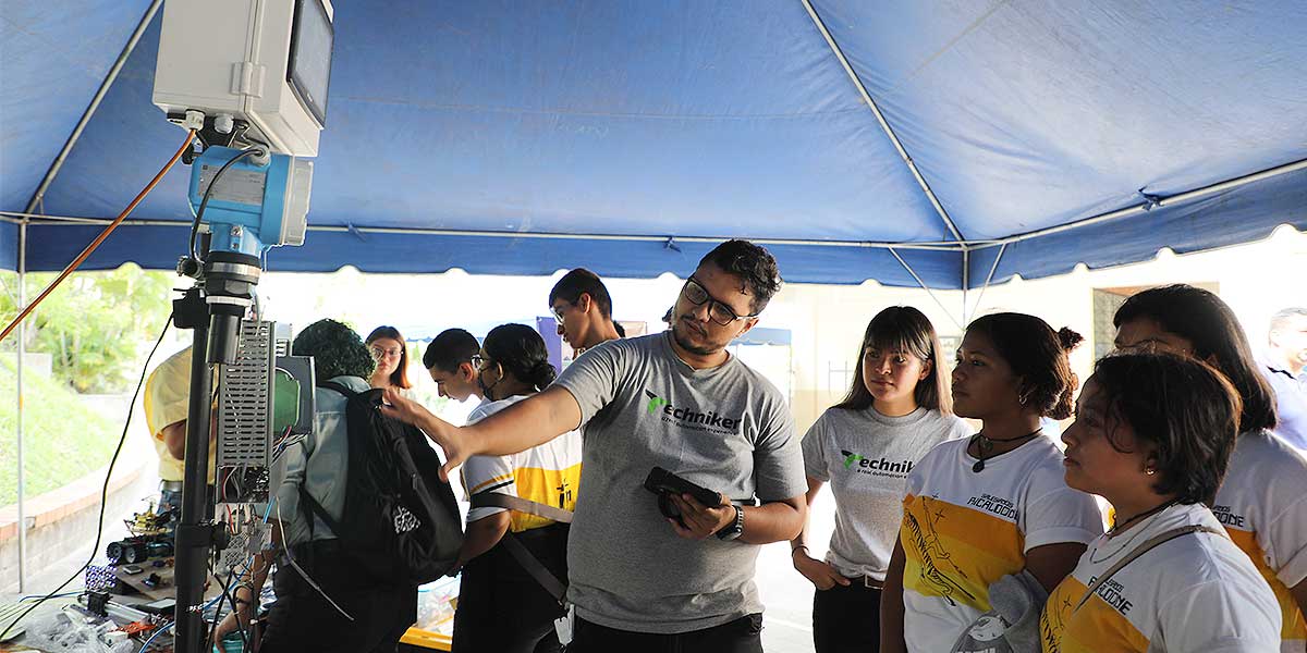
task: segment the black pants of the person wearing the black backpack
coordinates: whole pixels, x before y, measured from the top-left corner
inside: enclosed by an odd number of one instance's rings
[[[329,541],[335,542],[335,541]],[[273,577],[277,602],[268,611],[261,653],[393,653],[404,631],[417,622],[417,588],[378,586],[358,575],[340,551],[319,542],[312,552],[297,547],[295,562],[340,605],[340,614],[289,564]]]

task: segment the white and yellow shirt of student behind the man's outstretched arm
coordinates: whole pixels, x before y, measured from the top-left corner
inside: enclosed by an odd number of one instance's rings
[[[474,424],[524,398],[527,397],[518,394],[499,401],[484,401],[468,415],[468,423]],[[463,488],[469,498],[477,492],[491,491],[575,511],[576,488],[580,486],[580,431],[569,431],[520,453],[472,456],[463,465]],[[503,508],[472,508],[468,511],[468,524],[503,511]],[[521,533],[552,525],[554,521],[514,512],[508,524],[508,530]]]

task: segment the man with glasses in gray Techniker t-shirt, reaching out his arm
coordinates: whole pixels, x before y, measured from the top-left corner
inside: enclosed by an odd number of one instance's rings
[[[775,260],[744,240],[699,261],[672,329],[605,342],[545,392],[455,428],[387,393],[389,414],[427,432],[446,470],[584,428],[580,494],[569,543],[569,652],[761,652],[753,584],[758,545],[792,539],[805,516],[802,453],[784,397],[725,350],[779,289]],[[718,505],[672,495],[664,517],[642,485],[661,466],[721,492]],[[761,505],[741,505],[757,499]],[[736,503],[731,503],[735,500]]]

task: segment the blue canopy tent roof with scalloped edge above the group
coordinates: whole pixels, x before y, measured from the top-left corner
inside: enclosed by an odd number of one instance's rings
[[[159,4],[0,7],[0,266],[61,269],[179,145]],[[1307,229],[1303,34],[1298,0],[340,0],[268,266],[644,277],[744,236],[793,282],[966,290]],[[186,185],[84,269],[173,268]]]

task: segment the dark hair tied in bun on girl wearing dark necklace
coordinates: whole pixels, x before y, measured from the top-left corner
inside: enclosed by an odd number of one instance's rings
[[[989,337],[1012,374],[1021,377],[1023,405],[1039,409],[1043,417],[1067,419],[1078,385],[1068,354],[1085,338],[1065,326],[1053,330],[1048,323],[1026,313],[991,313],[978,317],[967,332]]]

